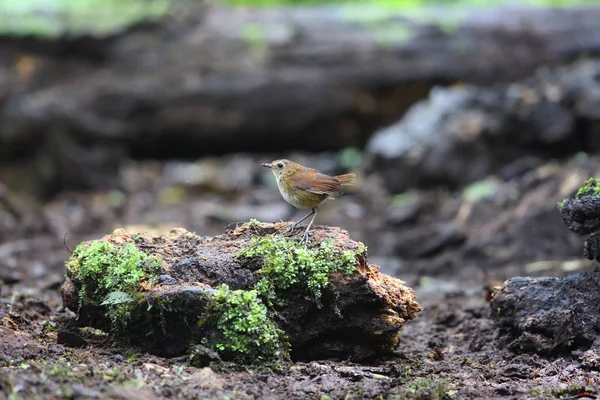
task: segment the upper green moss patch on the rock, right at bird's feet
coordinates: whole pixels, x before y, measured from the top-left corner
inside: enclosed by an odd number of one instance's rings
[[[256,271],[259,281],[255,290],[269,302],[290,288],[308,292],[315,300],[321,298],[329,277],[335,272],[351,275],[356,269],[358,251],[336,250],[331,240],[314,248],[306,248],[296,240],[280,235],[253,238],[250,244],[237,253],[238,258],[260,257],[262,267]]]

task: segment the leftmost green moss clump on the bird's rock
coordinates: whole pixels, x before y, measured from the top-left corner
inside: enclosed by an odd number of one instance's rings
[[[153,286],[161,261],[132,244],[115,246],[95,240],[82,243],[66,262],[69,278],[78,283],[79,304],[106,307],[113,328],[123,322],[129,306],[139,300],[142,284]]]

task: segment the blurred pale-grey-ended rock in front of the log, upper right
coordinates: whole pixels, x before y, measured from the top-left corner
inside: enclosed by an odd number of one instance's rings
[[[436,88],[375,133],[367,163],[381,170],[390,191],[402,192],[463,186],[493,173],[510,177],[541,159],[597,151],[599,72],[600,63],[581,62],[540,69],[520,83]],[[525,157],[527,163],[514,164]]]

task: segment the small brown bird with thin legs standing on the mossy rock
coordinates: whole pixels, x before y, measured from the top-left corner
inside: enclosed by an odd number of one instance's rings
[[[319,204],[325,199],[344,194],[340,187],[352,185],[356,178],[355,174],[325,175],[316,169],[306,168],[290,160],[275,160],[261,165],[271,168],[277,179],[279,192],[285,201],[301,210],[311,209],[309,214],[293,223],[288,230],[292,232],[300,222],[313,215],[302,236],[302,242],[305,243],[308,241],[310,227],[319,214]]]

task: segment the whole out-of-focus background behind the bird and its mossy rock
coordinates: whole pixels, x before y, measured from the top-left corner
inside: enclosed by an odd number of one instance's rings
[[[277,158],[356,172],[316,223],[422,292],[588,268],[556,203],[600,172],[598,54],[592,0],[0,0],[0,281],[297,220]]]

